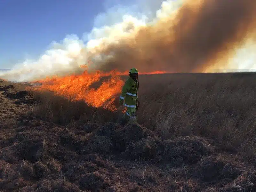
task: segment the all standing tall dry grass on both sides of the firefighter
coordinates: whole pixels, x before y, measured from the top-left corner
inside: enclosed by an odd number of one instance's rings
[[[212,138],[248,160],[256,153],[255,74],[164,74],[140,76],[138,123],[163,139],[180,135]],[[30,112],[55,123],[79,126],[118,121],[112,113],[51,93],[32,93]],[[119,96],[117,96],[118,98]]]

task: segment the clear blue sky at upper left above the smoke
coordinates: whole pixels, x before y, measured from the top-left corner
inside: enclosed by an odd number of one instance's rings
[[[52,41],[82,38],[116,0],[0,0],[0,68],[37,58]]]

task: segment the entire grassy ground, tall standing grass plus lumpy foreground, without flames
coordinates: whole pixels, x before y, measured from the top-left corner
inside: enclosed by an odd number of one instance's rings
[[[141,75],[132,125],[119,123],[122,107],[10,84],[0,83],[4,192],[256,191],[254,73]]]

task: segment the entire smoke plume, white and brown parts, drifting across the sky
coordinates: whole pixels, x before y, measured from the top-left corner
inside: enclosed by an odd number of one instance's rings
[[[136,6],[117,10],[118,15],[113,10],[99,15],[102,22],[96,22],[84,41],[68,36],[38,60],[17,64],[0,77],[32,81],[81,73],[81,65],[89,71],[120,72],[132,67],[139,72],[254,67],[255,0],[168,0],[153,15]],[[115,21],[106,26],[104,18]]]

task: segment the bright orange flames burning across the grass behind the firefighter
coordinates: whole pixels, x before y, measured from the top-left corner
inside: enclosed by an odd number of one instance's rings
[[[142,74],[162,74],[165,72],[155,71]],[[52,91],[55,95],[64,96],[72,101],[84,101],[89,106],[104,108],[111,111],[117,110],[115,106],[116,96],[121,93],[124,80],[121,76],[127,76],[128,72],[121,73],[111,71],[109,73],[88,73],[85,71],[81,75],[72,75],[65,77],[46,78],[36,83],[42,84],[33,89],[37,91]],[[101,81],[102,77],[110,77]],[[93,88],[97,84],[98,88]]]

